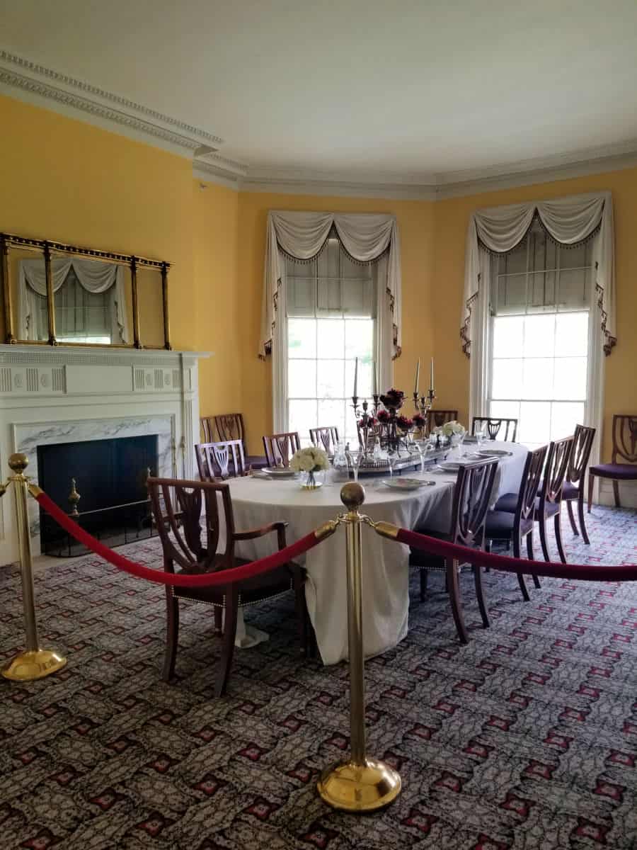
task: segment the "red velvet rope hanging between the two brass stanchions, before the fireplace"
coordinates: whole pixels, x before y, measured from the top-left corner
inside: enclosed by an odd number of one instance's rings
[[[251,564],[242,564],[240,567],[219,570],[216,573],[199,573],[196,575],[166,573],[163,570],[153,570],[151,567],[144,567],[143,564],[135,564],[134,561],[129,561],[123,555],[113,552],[112,549],[104,546],[104,543],[100,543],[93,535],[88,534],[74,520],[70,519],[46,493],[38,493],[35,498],[41,507],[65,531],[68,531],[70,535],[76,538],[76,541],[83,543],[84,546],[93,550],[100,558],[104,558],[109,564],[116,566],[118,570],[124,570],[131,575],[137,575],[140,579],[148,579],[149,581],[155,581],[157,584],[173,585],[174,587],[219,587],[237,581],[245,581],[245,579],[251,579],[254,575],[262,575],[262,573],[268,573],[270,570],[275,570],[277,567],[287,564],[293,558],[297,558],[320,542],[320,538],[311,531],[308,535],[302,537],[301,540],[297,540],[296,543],[292,543],[290,546],[285,547],[285,549],[281,549],[280,552],[268,555],[268,558],[252,561]]]

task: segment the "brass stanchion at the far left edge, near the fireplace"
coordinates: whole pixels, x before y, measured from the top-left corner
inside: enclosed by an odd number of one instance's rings
[[[9,482],[14,485],[15,515],[20,545],[20,573],[22,575],[22,604],[25,609],[26,649],[2,668],[5,679],[30,682],[58,671],[66,659],[54,649],[42,649],[37,638],[36,604],[33,591],[33,563],[31,560],[31,530],[29,529],[29,479],[24,471],[29,463],[26,455],[11,455],[8,465],[14,474]]]

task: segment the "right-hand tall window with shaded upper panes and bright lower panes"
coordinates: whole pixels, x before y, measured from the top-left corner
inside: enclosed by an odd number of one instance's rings
[[[489,415],[518,419],[518,439],[530,448],[585,420],[592,251],[592,241],[555,243],[536,222],[492,263]]]

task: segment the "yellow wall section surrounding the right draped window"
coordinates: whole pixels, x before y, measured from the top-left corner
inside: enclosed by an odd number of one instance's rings
[[[604,437],[602,454],[610,460],[614,413],[637,411],[637,168],[589,177],[535,184],[517,189],[470,195],[436,204],[434,286],[434,345],[437,363],[437,406],[456,405],[466,420],[469,405],[469,361],[459,345],[460,308],[464,290],[465,239],[471,212],[520,201],[542,200],[581,192],[611,190],[615,213],[615,259],[617,277],[617,346],[606,358]]]

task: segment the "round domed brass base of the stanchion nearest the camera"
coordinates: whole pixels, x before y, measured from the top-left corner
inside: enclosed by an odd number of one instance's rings
[[[318,779],[318,793],[333,808],[373,812],[389,805],[400,793],[400,775],[374,758],[364,765],[337,762]]]

